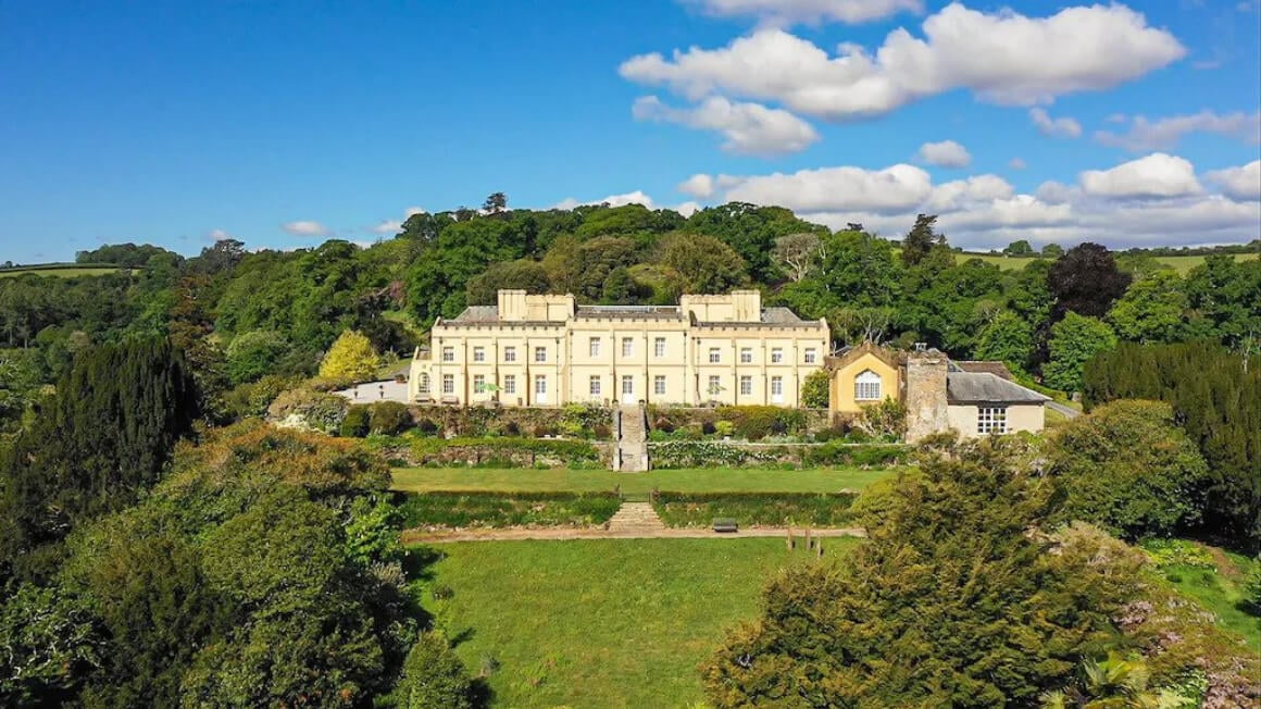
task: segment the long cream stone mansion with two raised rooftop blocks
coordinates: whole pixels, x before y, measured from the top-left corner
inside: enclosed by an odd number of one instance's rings
[[[827,322],[763,308],[757,290],[683,295],[678,305],[578,305],[572,295],[501,290],[434,323],[409,399],[455,405],[569,402],[798,406],[823,367]]]

